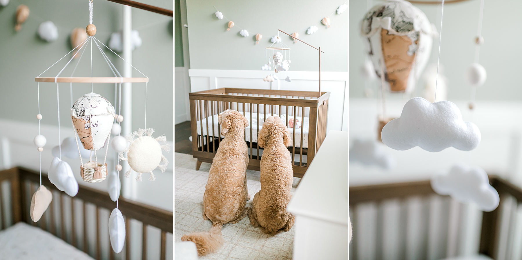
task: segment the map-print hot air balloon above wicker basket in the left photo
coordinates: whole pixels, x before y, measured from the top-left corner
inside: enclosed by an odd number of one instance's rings
[[[103,148],[114,122],[114,107],[111,102],[99,94],[87,93],[76,100],[70,114],[84,148]]]

